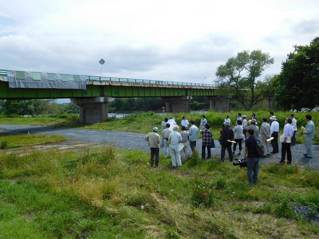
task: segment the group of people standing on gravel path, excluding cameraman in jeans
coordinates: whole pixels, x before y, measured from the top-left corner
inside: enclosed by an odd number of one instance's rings
[[[283,135],[279,137],[279,122],[273,112],[270,112],[269,116],[269,122],[266,117],[261,119],[260,128],[257,125],[257,118],[254,113],[248,121],[246,115],[242,116],[241,113],[238,113],[236,122],[232,128],[231,119],[229,119],[229,116],[226,116],[220,130],[219,142],[221,144],[221,161],[224,161],[226,149],[228,151],[229,160],[233,161],[233,155],[235,154],[237,145],[239,147],[238,155],[241,155],[243,141],[246,141],[244,157],[249,156],[248,148],[246,146],[247,139],[254,136],[264,147],[263,157],[279,153],[278,139],[280,139],[280,142],[282,143],[282,157],[280,163],[285,163],[287,155],[287,163],[291,164],[291,146],[296,144],[297,120],[295,119],[294,114],[290,114],[289,118],[285,120]],[[188,122],[186,117],[182,117],[180,132],[178,132],[179,126],[176,122],[173,120],[173,125],[171,125],[168,123],[169,119],[167,118],[161,123],[161,137],[157,133],[158,128],[154,127],[153,132],[145,136],[145,139],[149,141],[151,147],[151,166],[154,165],[154,161],[156,166],[159,164],[160,147],[163,147],[164,149],[164,158],[167,158],[168,155],[170,155],[173,167],[181,166],[182,161],[190,156],[187,141],[189,141],[189,147],[193,152],[196,147],[198,132],[202,135],[201,157],[203,160],[209,160],[211,157],[212,132],[209,130],[210,124],[207,123],[206,117],[203,115],[201,118],[200,130],[193,120]],[[315,124],[312,121],[311,115],[306,115],[306,121],[307,126],[306,128],[303,128],[303,132],[306,135],[306,152],[304,155],[305,157],[312,158],[312,141],[315,135]],[[247,133],[248,131],[250,133]],[[248,143],[248,145],[251,144]],[[270,149],[270,145],[272,146],[272,150]],[[207,157],[205,154],[206,150]],[[256,159],[256,162],[258,160]]]

